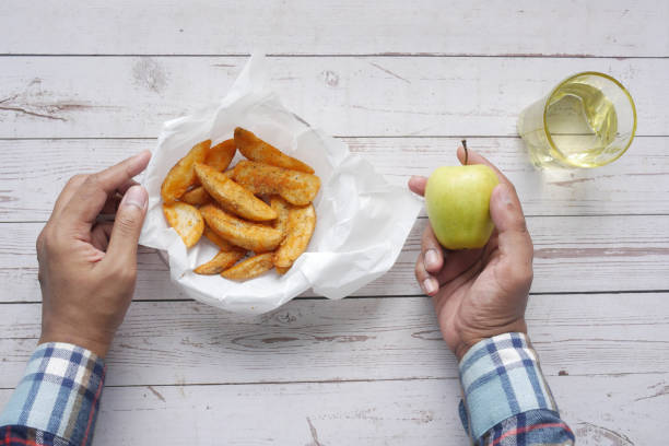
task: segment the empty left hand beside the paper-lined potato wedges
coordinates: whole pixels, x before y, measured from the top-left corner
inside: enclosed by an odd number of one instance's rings
[[[150,157],[144,151],[96,174],[77,175],[60,192],[37,237],[39,343],[69,342],[107,354],[134,292],[148,193],[132,177]],[[114,212],[114,222],[98,221]]]

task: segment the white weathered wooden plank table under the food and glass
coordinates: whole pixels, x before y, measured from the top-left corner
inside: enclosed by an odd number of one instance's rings
[[[455,164],[462,137],[500,166],[535,240],[527,318],[563,416],[580,444],[666,443],[668,20],[665,1],[2,1],[0,404],[39,333],[34,243],[66,180],[153,146],[261,50],[286,105],[392,181]],[[516,118],[584,70],[629,86],[636,140],[612,165],[542,174]],[[186,298],[142,249],[96,444],[467,444],[413,280],[425,224],[354,296],[261,317]]]

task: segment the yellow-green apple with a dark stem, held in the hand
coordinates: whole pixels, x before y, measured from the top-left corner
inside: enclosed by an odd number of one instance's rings
[[[425,187],[425,207],[437,239],[447,249],[481,248],[493,231],[490,197],[498,184],[482,164],[439,167]]]

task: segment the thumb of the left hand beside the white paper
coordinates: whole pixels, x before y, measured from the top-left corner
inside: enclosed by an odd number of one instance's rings
[[[105,259],[127,266],[137,262],[137,244],[146,215],[148,201],[149,195],[142,186],[132,186],[126,191],[116,211]]]

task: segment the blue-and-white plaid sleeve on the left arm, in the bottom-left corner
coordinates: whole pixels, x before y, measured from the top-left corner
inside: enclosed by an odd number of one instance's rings
[[[0,445],[90,445],[104,378],[105,365],[93,352],[38,345],[0,413]]]

